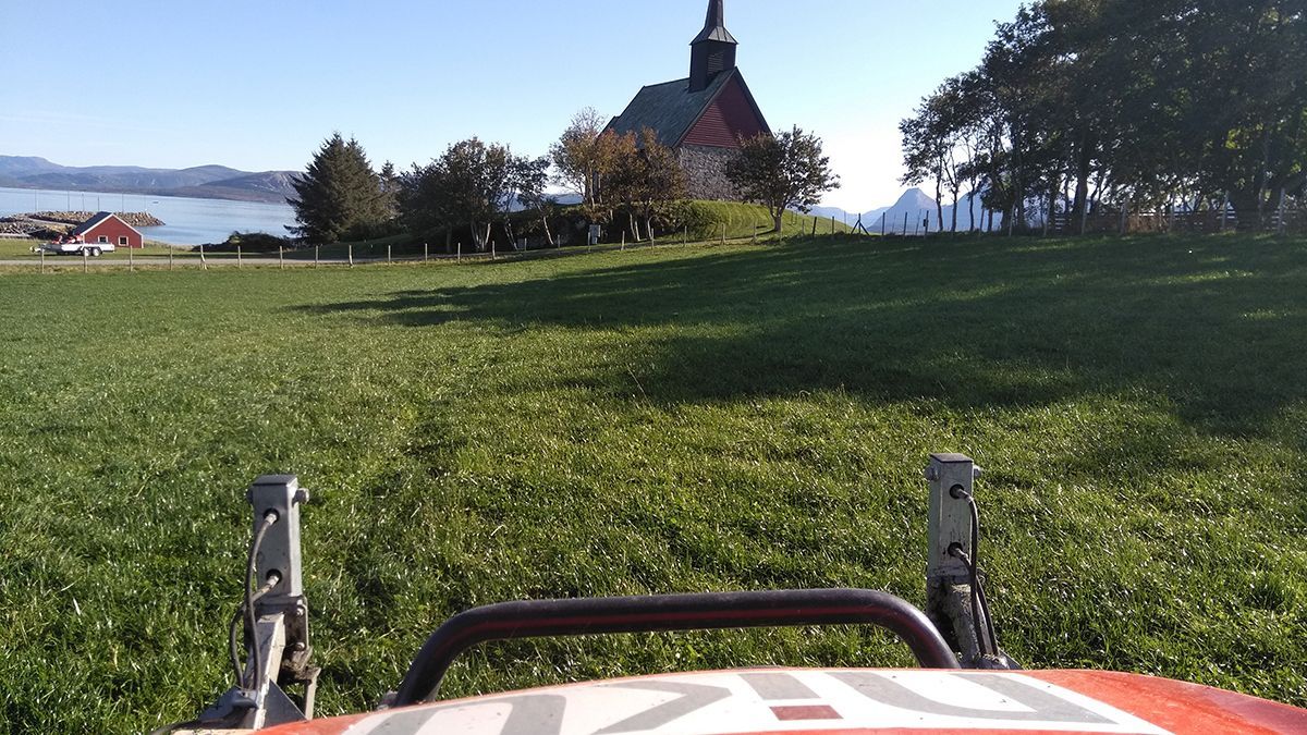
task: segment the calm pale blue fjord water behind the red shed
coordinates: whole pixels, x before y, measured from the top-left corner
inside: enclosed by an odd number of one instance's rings
[[[285,235],[286,226],[295,224],[295,212],[286,204],[148,194],[0,188],[0,217],[50,211],[149,212],[165,225],[141,228],[145,239],[170,245],[223,242],[233,231]]]

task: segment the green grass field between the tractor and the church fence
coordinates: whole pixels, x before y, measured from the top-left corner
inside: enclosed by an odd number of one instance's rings
[[[264,472],[315,492],[329,714],[474,604],[921,604],[931,451],[987,468],[1023,664],[1304,706],[1304,294],[1307,243],[1240,238],[0,276],[0,732],[140,732],[221,693]],[[447,693],[908,662],[863,629],[574,640],[486,647]]]

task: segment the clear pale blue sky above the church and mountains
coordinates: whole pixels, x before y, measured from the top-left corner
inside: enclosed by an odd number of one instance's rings
[[[897,124],[1019,0],[728,0],[774,128],[826,140],[891,204]],[[684,77],[707,0],[4,0],[0,154],[71,166],[303,169],[333,131],[379,166],[478,135],[544,154],[571,115]],[[61,41],[63,39],[63,41]]]

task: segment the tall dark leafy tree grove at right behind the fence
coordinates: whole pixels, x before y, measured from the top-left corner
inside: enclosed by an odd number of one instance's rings
[[[902,123],[904,180],[979,191],[1013,228],[1226,201],[1261,225],[1307,186],[1303,16],[1302,0],[1026,5]]]

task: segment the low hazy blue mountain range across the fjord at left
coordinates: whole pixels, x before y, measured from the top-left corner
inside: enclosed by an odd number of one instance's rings
[[[294,195],[290,182],[295,175],[297,171],[252,174],[226,166],[180,170],[140,166],[73,167],[30,156],[0,156],[0,186],[9,188],[150,194],[281,204]]]

